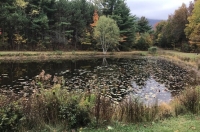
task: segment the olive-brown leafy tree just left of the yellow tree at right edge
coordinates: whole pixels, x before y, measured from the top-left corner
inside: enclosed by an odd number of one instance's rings
[[[182,4],[174,14],[169,15],[167,21],[162,21],[156,26],[155,42],[162,48],[181,48],[187,39],[184,33],[188,23],[188,8]]]

